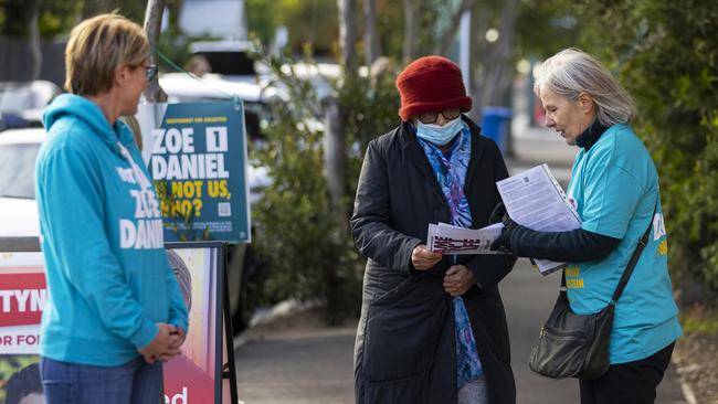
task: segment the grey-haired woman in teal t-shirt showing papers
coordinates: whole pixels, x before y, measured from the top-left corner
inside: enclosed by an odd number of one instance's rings
[[[629,125],[633,102],[603,65],[573,49],[542,64],[534,91],[546,109],[546,125],[580,148],[568,198],[582,224],[570,232],[536,232],[497,206],[494,216],[504,216],[505,230],[492,248],[569,263],[563,276],[571,311],[578,315],[615,304],[610,366],[599,379],[580,380],[582,404],[653,403],[682,329],[668,276],[658,174]],[[648,226],[645,249],[613,302]]]

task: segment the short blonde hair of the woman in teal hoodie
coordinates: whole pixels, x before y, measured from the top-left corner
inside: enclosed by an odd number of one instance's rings
[[[83,96],[107,92],[119,65],[135,70],[148,55],[145,31],[123,15],[85,20],[72,30],[65,49],[65,89]]]

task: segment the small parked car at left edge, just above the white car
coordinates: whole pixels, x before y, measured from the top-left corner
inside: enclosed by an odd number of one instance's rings
[[[52,82],[0,82],[0,130],[42,126],[42,110],[62,93]]]

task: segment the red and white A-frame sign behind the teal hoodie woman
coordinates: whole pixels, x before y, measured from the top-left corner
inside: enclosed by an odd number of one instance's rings
[[[232,400],[236,380],[222,375],[223,363],[234,368],[222,305],[224,243],[166,247],[188,307],[189,329],[181,354],[165,363],[163,403],[236,402]],[[0,252],[0,404],[44,403],[38,366],[40,322],[47,301],[44,272],[42,253]]]

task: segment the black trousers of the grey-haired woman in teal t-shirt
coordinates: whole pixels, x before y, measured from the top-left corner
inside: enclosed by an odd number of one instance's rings
[[[653,404],[675,342],[635,362],[612,364],[596,380],[579,380],[581,404]]]

